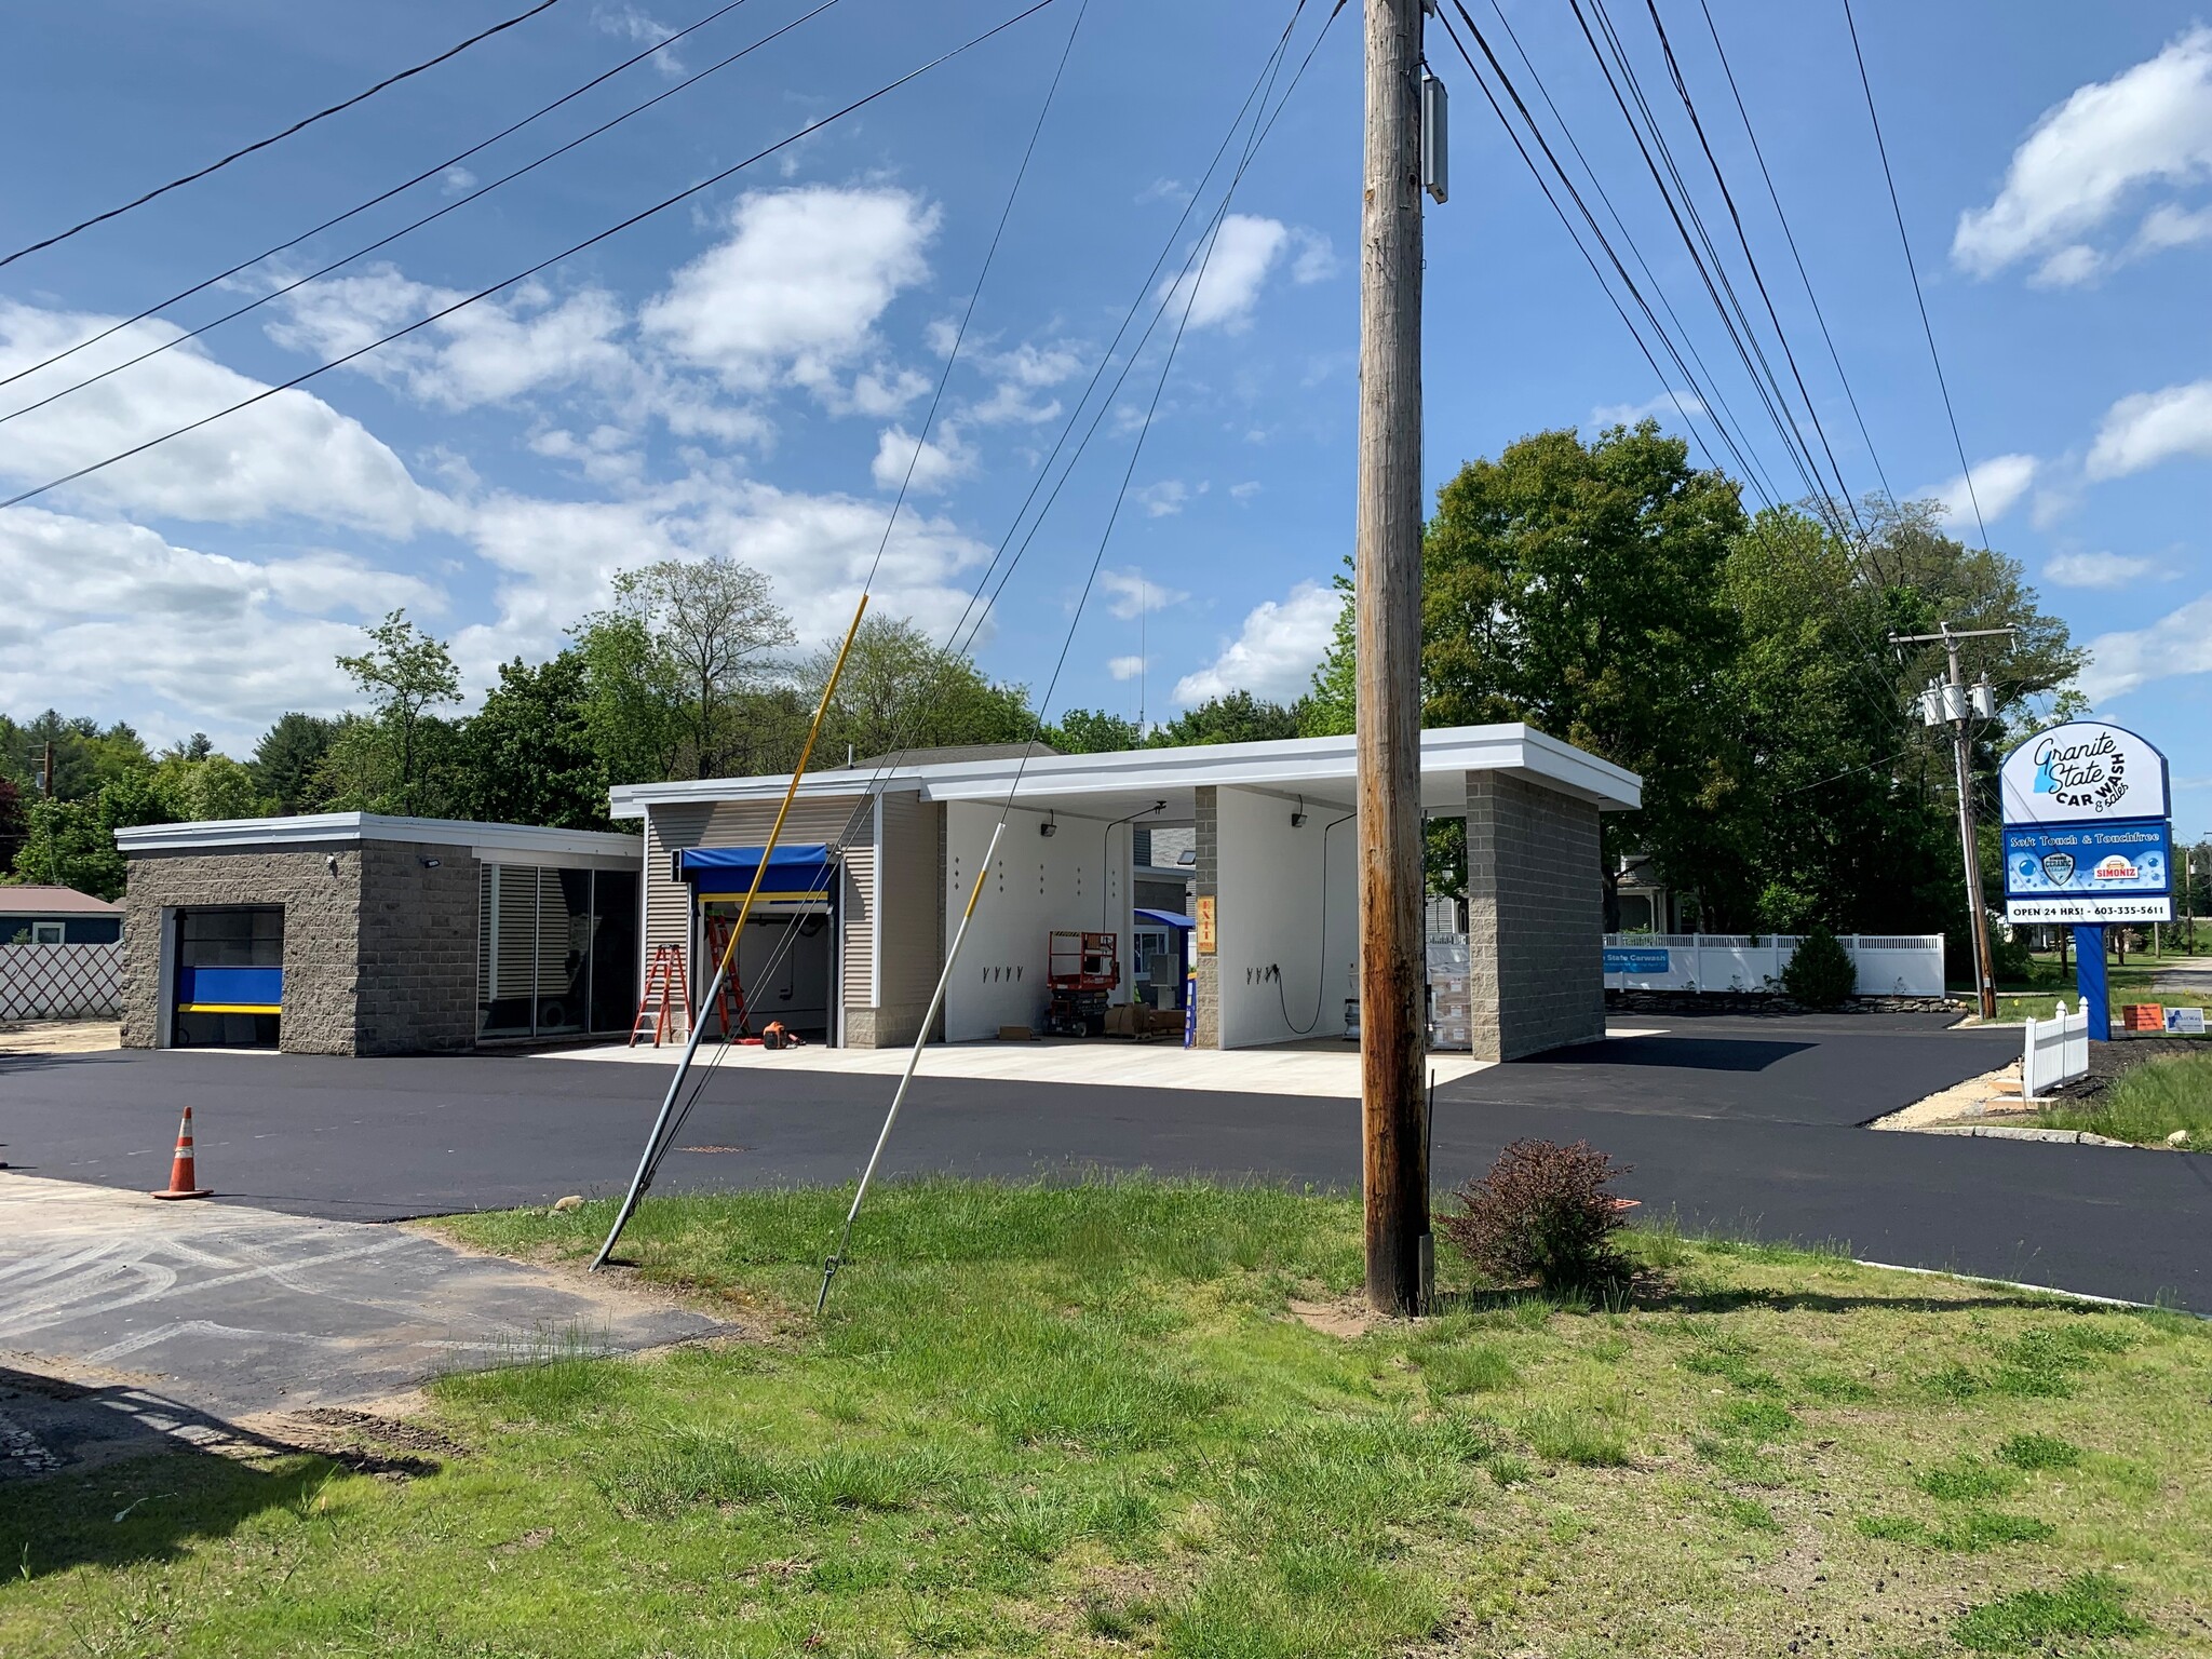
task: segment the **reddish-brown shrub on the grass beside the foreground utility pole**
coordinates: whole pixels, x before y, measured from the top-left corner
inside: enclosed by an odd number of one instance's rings
[[[1535,1279],[1546,1296],[1606,1292],[1628,1279],[1613,1248],[1621,1201],[1606,1186],[1628,1170],[1588,1141],[1513,1141],[1491,1172],[1458,1190],[1444,1237],[1500,1285]]]

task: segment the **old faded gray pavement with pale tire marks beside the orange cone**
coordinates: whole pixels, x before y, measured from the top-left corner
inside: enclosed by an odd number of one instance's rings
[[[405,1228],[0,1175],[0,1367],[190,1411],[378,1400],[549,1345],[626,1352],[714,1329],[611,1281]]]

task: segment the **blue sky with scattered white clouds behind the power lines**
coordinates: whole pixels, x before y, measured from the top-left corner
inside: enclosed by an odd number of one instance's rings
[[[748,0],[471,157],[467,177],[416,186],[0,387],[15,398],[0,414],[396,230],[814,4]],[[774,575],[810,639],[827,635],[883,533],[1073,4],[449,325],[0,511],[0,706],[126,717],[155,739],[201,728],[243,752],[283,708],[343,706],[332,655],[389,606],[451,637],[480,688],[495,661],[557,648],[608,573],[661,553],[730,551]],[[15,161],[0,241],[113,206],[511,9],[86,0],[20,18],[0,97],[0,146]],[[1015,9],[836,0],[372,259],[0,422],[0,478],[44,482],[290,378],[807,128]],[[1471,9],[1493,27],[1489,0]],[[0,372],[476,144],[708,11],[562,0],[296,139],[0,268]],[[1095,0],[878,606],[933,633],[960,613],[1287,11]],[[1506,15],[1723,396],[1747,411],[1573,15],[1528,0]],[[1646,13],[1613,15],[1646,86],[1666,91]],[[1712,15],[1871,456],[1703,15],[1661,7],[1845,478],[1876,489],[1878,460],[1900,493],[1962,500],[1840,7],[1712,0]],[[1314,0],[1298,53],[1318,18]],[[1055,706],[1135,714],[1139,686],[1152,717],[1232,686],[1287,697],[1318,655],[1352,520],[1356,20],[1352,7],[1336,22],[1237,192]],[[2101,714],[2166,745],[2181,827],[2203,830],[2212,31],[2161,4],[1865,0],[1860,33],[1991,542],[2095,644],[2084,688]],[[1679,422],[1433,31],[1431,60],[1455,93],[1453,197],[1429,212],[1431,480],[1544,427],[1641,409]],[[1688,161],[1679,108],[1661,119]],[[1201,199],[1199,215],[1212,206]],[[1719,223],[1710,188],[1703,206]],[[1175,259],[1188,248],[1177,241]],[[978,653],[993,672],[1042,692],[1155,372],[1157,356],[1139,361],[1009,584]],[[1772,427],[1750,431],[1778,469]],[[1964,513],[1953,529],[1973,538]]]

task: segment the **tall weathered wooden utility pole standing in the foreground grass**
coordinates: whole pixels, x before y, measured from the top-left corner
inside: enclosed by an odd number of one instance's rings
[[[1358,626],[1360,1126],[1367,1301],[1422,1305],[1429,1150],[1422,1099],[1420,860],[1420,18],[1367,2],[1360,208]]]

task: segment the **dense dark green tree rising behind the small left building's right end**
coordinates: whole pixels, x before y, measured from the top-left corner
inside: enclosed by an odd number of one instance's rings
[[[520,657],[500,666],[500,684],[462,732],[465,816],[557,830],[611,827],[586,684],[584,655],[575,648],[535,668]]]

